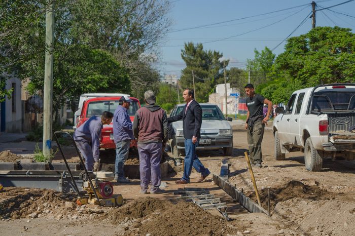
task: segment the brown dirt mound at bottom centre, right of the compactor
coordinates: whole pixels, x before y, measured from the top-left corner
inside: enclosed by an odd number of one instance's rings
[[[125,235],[226,235],[236,228],[222,217],[213,216],[193,203],[143,198],[100,216],[111,219]]]

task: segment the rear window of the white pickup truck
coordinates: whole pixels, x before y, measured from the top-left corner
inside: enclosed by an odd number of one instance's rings
[[[312,111],[355,110],[355,91],[321,91],[314,93]]]

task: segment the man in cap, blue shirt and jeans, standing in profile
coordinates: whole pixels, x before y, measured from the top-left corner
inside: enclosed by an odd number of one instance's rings
[[[134,139],[133,125],[127,112],[131,102],[132,99],[127,95],[122,96],[119,100],[119,106],[114,113],[113,129],[116,144],[115,180],[118,183],[130,182],[124,176],[123,166],[128,158],[129,144]]]

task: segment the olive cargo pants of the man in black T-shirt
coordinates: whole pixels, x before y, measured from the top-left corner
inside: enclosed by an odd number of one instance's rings
[[[254,122],[253,126],[248,126],[246,137],[248,141],[249,158],[252,164],[262,163],[261,142],[263,141],[265,124],[259,119]]]

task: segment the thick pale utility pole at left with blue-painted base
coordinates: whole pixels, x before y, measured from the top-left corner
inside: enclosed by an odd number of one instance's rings
[[[54,1],[49,4],[46,12],[46,59],[43,94],[43,155],[51,156],[52,148],[52,88],[53,88],[53,38],[54,38]]]

